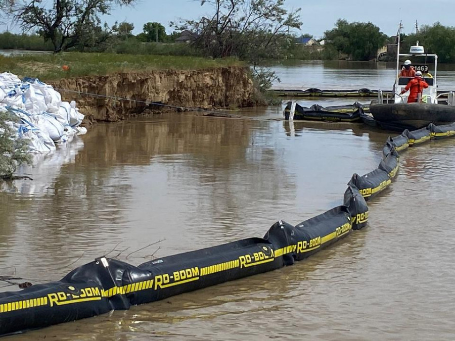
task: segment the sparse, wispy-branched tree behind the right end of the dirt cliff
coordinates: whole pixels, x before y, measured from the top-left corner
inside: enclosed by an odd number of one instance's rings
[[[292,37],[290,28],[300,28],[300,9],[288,12],[285,0],[201,0],[213,13],[200,20],[176,25],[197,37],[193,44],[206,56],[235,56],[256,63],[279,58]]]

